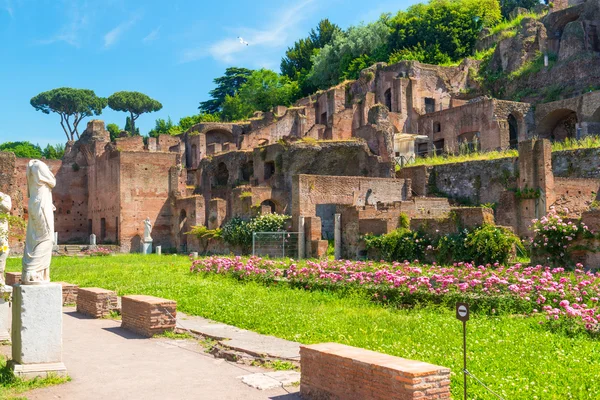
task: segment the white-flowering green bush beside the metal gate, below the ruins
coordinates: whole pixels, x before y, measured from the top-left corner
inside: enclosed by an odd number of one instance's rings
[[[281,232],[285,231],[289,215],[261,214],[251,219],[233,217],[223,225],[221,236],[232,246],[240,246],[248,250],[252,246],[254,232]]]

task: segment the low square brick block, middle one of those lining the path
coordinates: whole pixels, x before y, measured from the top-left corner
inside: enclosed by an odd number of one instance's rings
[[[121,327],[152,337],[175,329],[177,302],[159,297],[134,295],[121,299]]]

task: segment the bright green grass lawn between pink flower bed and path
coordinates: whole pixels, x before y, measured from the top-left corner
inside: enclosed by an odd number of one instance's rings
[[[185,313],[301,343],[334,341],[443,365],[452,369],[453,396],[462,398],[461,323],[452,310],[399,310],[359,293],[242,283],[189,267],[182,256],[56,257],[50,273],[81,287],[173,299]],[[19,269],[20,259],[9,259],[8,270]],[[552,333],[538,322],[473,316],[469,370],[506,399],[600,398],[600,341]],[[495,398],[469,382],[469,399]]]

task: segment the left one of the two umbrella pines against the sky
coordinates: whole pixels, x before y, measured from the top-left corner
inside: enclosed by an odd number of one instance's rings
[[[60,115],[60,125],[67,140],[79,139],[78,126],[82,119],[102,114],[107,105],[104,97],[93,90],[62,87],[42,92],[30,100],[33,108],[44,114]]]

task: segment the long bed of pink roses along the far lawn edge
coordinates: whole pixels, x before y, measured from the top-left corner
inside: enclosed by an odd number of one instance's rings
[[[600,333],[600,273],[541,265],[422,265],[410,262],[273,261],[259,257],[208,257],[193,272],[217,273],[267,284],[284,280],[304,289],[364,290],[375,301],[397,306],[467,301],[485,314],[545,314],[569,332]],[[541,321],[543,322],[543,321]]]

